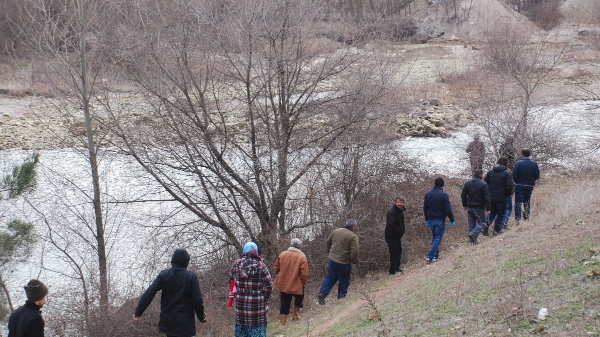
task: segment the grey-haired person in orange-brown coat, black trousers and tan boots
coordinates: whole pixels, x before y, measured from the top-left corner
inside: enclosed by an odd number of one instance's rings
[[[292,239],[290,248],[279,254],[275,261],[274,287],[281,291],[281,303],[279,307],[279,320],[281,325],[287,323],[287,315],[290,314],[290,305],[294,297],[294,311],[292,320],[299,320],[300,308],[304,300],[304,287],[308,281],[308,260],[301,251],[302,241]]]

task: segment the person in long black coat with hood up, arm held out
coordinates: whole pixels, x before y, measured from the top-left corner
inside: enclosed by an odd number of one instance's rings
[[[158,331],[166,335],[189,337],[196,335],[196,317],[205,320],[202,293],[198,276],[187,270],[190,254],[185,249],[176,249],[169,269],[163,270],[142,294],[137,304],[136,316],[143,315],[159,290],[160,320]]]

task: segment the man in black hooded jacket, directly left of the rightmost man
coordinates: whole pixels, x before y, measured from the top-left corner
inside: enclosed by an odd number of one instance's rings
[[[494,235],[502,234],[506,226],[506,198],[512,195],[515,188],[515,182],[512,180],[511,172],[506,169],[508,158],[500,157],[494,167],[485,174],[484,182],[488,184],[490,190],[491,209],[488,215],[488,225],[494,222]],[[488,232],[485,227],[484,235]]]

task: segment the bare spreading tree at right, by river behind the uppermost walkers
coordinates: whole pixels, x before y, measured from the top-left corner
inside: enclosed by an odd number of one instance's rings
[[[548,39],[544,32],[509,23],[492,25],[487,32],[481,62],[470,72],[464,97],[485,130],[491,161],[509,139],[515,148],[533,149],[542,162],[569,154],[550,113],[559,102],[542,91],[566,44]]]

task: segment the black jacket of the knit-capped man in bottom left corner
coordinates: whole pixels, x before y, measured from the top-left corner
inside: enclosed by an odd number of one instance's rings
[[[41,306],[25,301],[8,318],[8,337],[44,337],[44,318]]]

